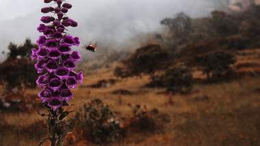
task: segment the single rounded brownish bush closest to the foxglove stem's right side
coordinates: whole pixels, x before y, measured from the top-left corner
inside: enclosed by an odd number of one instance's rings
[[[84,104],[75,115],[75,125],[92,143],[111,143],[120,137],[120,121],[109,106],[96,99]]]

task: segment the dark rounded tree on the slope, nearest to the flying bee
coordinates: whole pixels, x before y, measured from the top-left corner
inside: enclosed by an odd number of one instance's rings
[[[165,68],[168,62],[168,53],[158,44],[148,44],[135,50],[135,53],[123,61],[132,76],[142,73],[151,76],[155,81],[155,72]]]

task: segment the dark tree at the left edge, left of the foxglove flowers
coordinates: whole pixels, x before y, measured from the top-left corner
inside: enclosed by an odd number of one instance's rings
[[[8,46],[10,53],[8,59],[0,63],[0,83],[5,85],[6,91],[14,87],[35,87],[37,73],[34,64],[29,58],[29,51],[36,47],[31,40],[26,39],[25,43],[17,46],[12,42]]]

